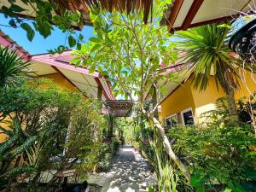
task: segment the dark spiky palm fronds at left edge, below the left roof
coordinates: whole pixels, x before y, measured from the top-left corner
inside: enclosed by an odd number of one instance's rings
[[[0,88],[15,85],[26,75],[26,67],[30,65],[16,51],[0,46]]]

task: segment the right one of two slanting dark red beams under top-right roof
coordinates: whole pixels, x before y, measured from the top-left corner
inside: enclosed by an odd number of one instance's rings
[[[183,20],[182,29],[187,30],[192,23],[192,20],[194,20],[195,15],[197,14],[198,10],[201,8],[201,4],[204,2],[204,0],[194,0],[192,3],[189,12],[185,19]]]

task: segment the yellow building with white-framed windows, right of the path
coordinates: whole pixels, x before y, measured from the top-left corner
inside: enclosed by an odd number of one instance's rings
[[[240,89],[236,90],[236,100],[249,96],[256,91],[256,75],[241,69]],[[160,102],[161,121],[167,127],[176,124],[196,124],[203,119],[201,114],[215,109],[218,98],[225,96],[224,90],[215,84],[211,77],[207,90],[200,92],[191,85],[192,75],[184,75],[180,84],[169,82],[165,86],[169,90]]]

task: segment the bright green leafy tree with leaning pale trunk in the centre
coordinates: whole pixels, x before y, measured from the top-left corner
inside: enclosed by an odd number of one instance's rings
[[[166,3],[171,1],[154,2],[151,22],[147,25],[143,23],[142,10],[135,10],[127,15],[125,11],[120,13],[113,10],[112,13],[107,13],[94,8],[90,11],[90,19],[94,23],[96,36],[90,38],[90,43],[82,44],[80,50],[73,52],[73,63],[89,67],[90,72],[98,70],[103,75],[108,75],[115,93],[130,98],[137,113],[153,121],[165,143],[166,153],[189,180],[189,172],[173,153],[163,127],[153,117],[153,113],[144,109],[148,88],[155,86],[155,82],[160,79],[166,81],[173,78],[172,74],[168,76],[159,71],[160,62],[163,61],[168,66],[177,55],[169,41],[170,33],[166,27],[160,26]],[[161,92],[162,90],[157,89],[158,97]],[[138,102],[135,102],[135,98],[138,98]],[[155,109],[157,104],[154,105]],[[143,124],[141,127],[143,128]]]

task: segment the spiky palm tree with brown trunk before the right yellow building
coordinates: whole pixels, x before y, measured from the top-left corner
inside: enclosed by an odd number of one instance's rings
[[[192,84],[195,89],[206,90],[213,75],[217,88],[221,85],[227,95],[230,118],[237,120],[235,90],[239,87],[236,72],[237,59],[224,44],[228,27],[211,24],[177,32],[177,48],[185,52],[183,60],[194,71]]]

